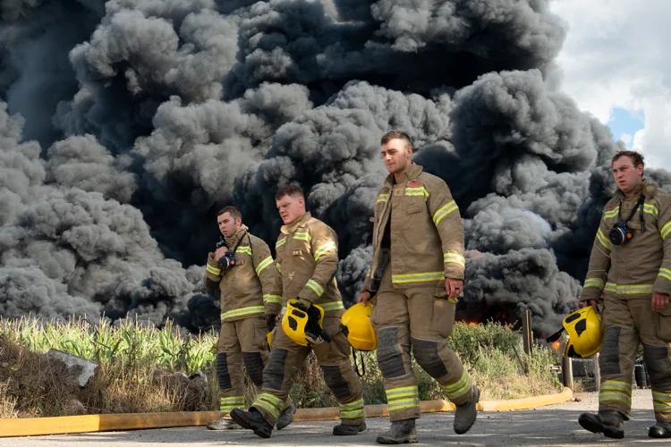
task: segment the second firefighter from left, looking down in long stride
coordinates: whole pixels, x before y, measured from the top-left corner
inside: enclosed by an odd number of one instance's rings
[[[298,340],[297,334],[287,334],[278,326],[273,333],[268,366],[263,372],[263,393],[249,411],[234,409],[231,417],[241,426],[254,430],[255,434],[270,437],[281,404],[312,350],[340,407],[341,423],[334,426],[333,434],[358,434],[366,429],[366,423],[361,383],[350,362],[351,346],[340,327],[344,306],[335,283],[337,237],[327,224],[306,212],[305,198],[299,187],[279,190],[276,205],[285,224],[276,242],[277,274],[273,294],[282,295],[283,313],[287,305],[302,309],[304,314],[312,313],[312,305],[319,307],[320,312],[323,310],[322,329],[327,332],[330,342],[298,344],[292,340]],[[297,299],[295,304],[294,299]],[[275,307],[274,312],[279,313],[280,305],[275,304]],[[291,330],[290,325],[286,327]],[[294,325],[293,330],[296,329],[297,325]]]

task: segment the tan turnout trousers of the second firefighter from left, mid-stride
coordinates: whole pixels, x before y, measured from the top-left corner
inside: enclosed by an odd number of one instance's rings
[[[323,327],[331,336],[331,342],[311,347],[294,343],[282,330],[282,325],[276,325],[273,350],[263,371],[262,393],[251,404],[271,426],[275,424],[282,402],[288,398],[310,350],[317,357],[324,381],[338,402],[342,424],[358,426],[363,423],[361,382],[350,361],[351,346],[340,329],[340,315],[342,311],[337,316],[324,316]]]

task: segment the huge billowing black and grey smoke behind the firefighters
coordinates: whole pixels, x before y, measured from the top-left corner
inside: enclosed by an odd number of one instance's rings
[[[399,129],[463,216],[458,316],[554,333],[621,148],[556,87],[565,33],[547,0],[2,2],[0,315],[216,327],[217,210],[272,247],[292,182],[350,303]]]

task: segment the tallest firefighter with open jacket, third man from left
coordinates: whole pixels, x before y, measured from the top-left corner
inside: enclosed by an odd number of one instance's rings
[[[370,319],[391,419],[377,442],[417,442],[420,398],[411,349],[456,405],[454,431],[463,434],[475,422],[480,391],[447,345],[455,303],[463,296],[459,209],[445,181],[412,163],[406,133],[387,132],[380,151],[389,175],[376,199],[373,261],[359,297],[373,304]]]

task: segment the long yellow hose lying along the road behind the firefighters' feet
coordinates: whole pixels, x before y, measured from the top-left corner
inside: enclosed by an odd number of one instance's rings
[[[532,409],[552,405],[573,398],[573,392],[565,388],[563,392],[545,396],[514,399],[510,401],[480,401],[480,411],[510,411]],[[389,416],[386,404],[366,405],[366,417]],[[454,411],[450,401],[420,401],[420,412],[435,413]],[[184,411],[174,413],[121,413],[111,415],[84,415],[61,417],[30,417],[0,419],[0,437],[35,436],[40,434],[73,434],[107,432],[117,430],[138,430],[145,428],[168,428],[175,426],[205,426],[217,420],[218,411]],[[324,409],[298,409],[293,416],[295,422],[338,419],[337,407]]]

